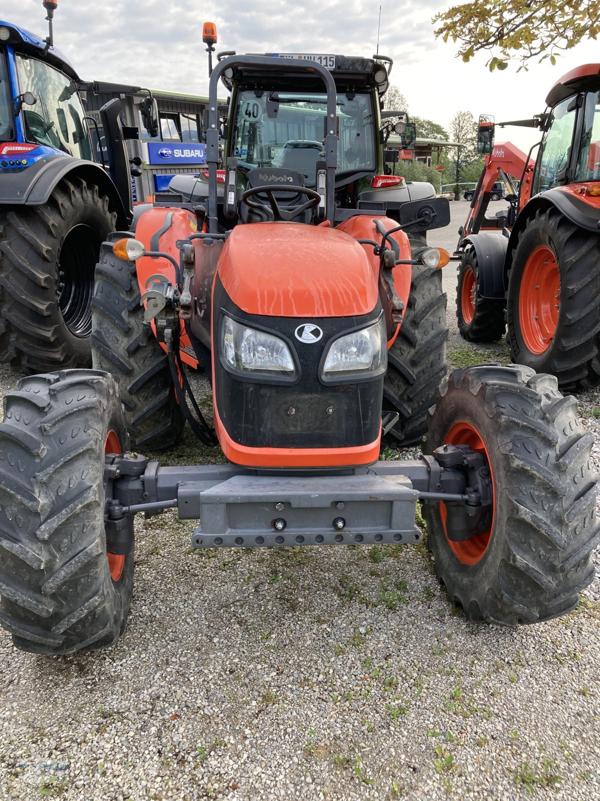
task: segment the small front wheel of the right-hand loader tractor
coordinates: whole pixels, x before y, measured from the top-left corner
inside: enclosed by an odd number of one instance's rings
[[[474,276],[474,308],[463,309],[462,289],[469,273]],[[496,342],[506,331],[506,300],[490,300],[479,294],[479,265],[474,248],[469,248],[458,266],[456,319],[458,331],[468,342]]]

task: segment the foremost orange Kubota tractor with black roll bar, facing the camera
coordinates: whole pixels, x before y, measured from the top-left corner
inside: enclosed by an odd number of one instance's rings
[[[232,91],[222,193],[219,78]],[[390,368],[410,388],[433,369],[421,348],[432,332],[445,348],[449,256],[411,248],[408,233],[418,242],[450,221],[446,199],[403,203],[398,219],[393,194],[369,186],[361,199],[385,83],[376,58],[229,54],[215,66],[206,206],[170,194],[138,207],[96,270],[98,369],[28,376],[6,395],[0,622],[15,646],[114,643],[134,516],[171,508],[197,521],[194,548],[408,546],[423,537],[420,501],[438,575],[467,618],[517,626],[578,602],[594,576],[598,483],[593,437],[554,377],[458,370],[427,399],[425,455],[378,461],[402,413],[382,411]],[[281,147],[265,128],[274,119]],[[282,150],[306,152],[291,167]],[[186,364],[212,384],[214,430]],[[174,444],[184,421],[229,463],[162,467],[140,453]]]

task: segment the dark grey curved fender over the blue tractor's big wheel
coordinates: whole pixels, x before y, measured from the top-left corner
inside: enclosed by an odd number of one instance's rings
[[[117,212],[117,227],[128,228],[130,219],[114,183],[93,161],[75,159],[68,155],[48,155],[22,172],[6,172],[0,182],[0,205],[42,206],[48,202],[54,187],[72,175],[98,185],[102,195],[108,195]]]

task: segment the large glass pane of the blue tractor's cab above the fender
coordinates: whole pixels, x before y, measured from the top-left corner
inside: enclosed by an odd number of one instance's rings
[[[33,92],[34,106],[23,106],[28,142],[55,147],[79,159],[90,159],[84,111],[77,87],[49,64],[17,55],[19,91]]]

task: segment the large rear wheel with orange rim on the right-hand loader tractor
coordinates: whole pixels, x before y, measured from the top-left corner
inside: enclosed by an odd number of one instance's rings
[[[554,207],[537,211],[514,250],[506,320],[515,362],[550,372],[562,388],[598,384],[600,236],[583,231]]]

